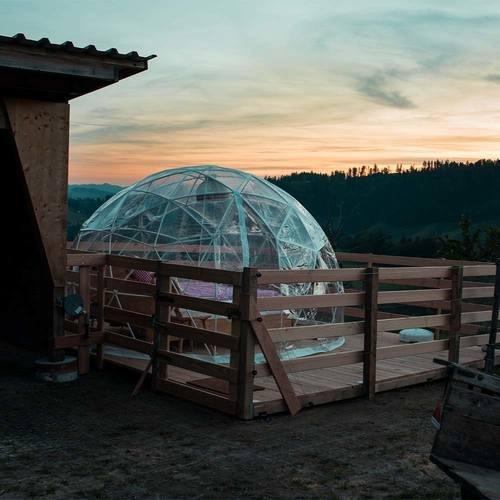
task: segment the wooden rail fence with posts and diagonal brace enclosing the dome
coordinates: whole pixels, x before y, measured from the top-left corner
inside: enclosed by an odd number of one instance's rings
[[[363,267],[314,271],[246,268],[239,272],[104,254],[69,254],[68,287],[79,290],[92,321],[67,320],[68,333],[59,337],[56,345],[78,349],[82,374],[89,370],[92,345],[96,346],[98,367],[105,357],[103,346],[108,344],[150,355],[141,380],[151,369],[156,391],[249,419],[254,416],[254,383],[259,378],[273,377],[286,408],[295,414],[302,408],[303,398],[296,394],[289,374],[362,363],[363,381],[356,394],[373,398],[377,361],[442,351],[448,351],[450,361],[459,361],[461,349],[487,342],[488,336],[481,333],[478,323],[491,320],[487,302],[493,297],[495,265],[370,254],[338,257],[343,263],[356,262]],[[154,273],[155,284],[124,279],[118,269]],[[232,288],[232,300],[183,295],[174,286],[179,279],[225,285]],[[342,282],[345,293],[257,294],[258,289],[270,285],[319,282]],[[111,305],[113,297],[127,299],[128,307],[122,307],[120,301]],[[403,305],[412,312],[390,312],[387,308],[391,305]],[[263,314],[331,307],[343,308],[346,320],[275,327],[266,324]],[[196,316],[179,321],[179,310],[196,311]],[[225,318],[224,328],[207,327],[197,319],[200,314]],[[132,325],[152,335],[133,338],[113,330],[110,324]],[[415,344],[377,345],[382,332],[414,327],[432,328],[437,338]],[[362,349],[291,360],[280,359],[277,349],[281,342],[355,335],[363,336]],[[171,339],[217,346],[227,353],[228,362],[215,363],[182,352],[172,347]],[[265,363],[255,364],[256,352],[264,355]],[[193,374],[206,384],[190,383]],[[213,390],[214,380],[223,381],[226,389]]]

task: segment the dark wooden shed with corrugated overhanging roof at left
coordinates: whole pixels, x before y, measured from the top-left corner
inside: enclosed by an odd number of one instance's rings
[[[64,328],[69,101],[146,70],[153,57],[0,36],[1,335],[54,360]]]

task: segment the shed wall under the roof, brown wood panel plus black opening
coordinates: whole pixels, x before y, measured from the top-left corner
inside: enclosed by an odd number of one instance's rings
[[[7,295],[3,337],[53,355],[63,331],[68,183],[67,103],[0,101]]]

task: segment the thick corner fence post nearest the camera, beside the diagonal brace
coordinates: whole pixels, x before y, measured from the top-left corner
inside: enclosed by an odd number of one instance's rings
[[[239,317],[231,320],[231,334],[238,336],[238,352],[231,352],[231,366],[237,368],[237,383],[229,395],[236,399],[239,418],[253,418],[253,380],[255,371],[255,341],[250,327],[252,297],[257,298],[257,269],[245,267],[241,274],[241,287],[233,288],[233,302]]]

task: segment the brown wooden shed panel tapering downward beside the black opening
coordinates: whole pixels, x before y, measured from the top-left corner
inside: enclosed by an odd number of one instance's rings
[[[10,97],[1,101],[0,127],[11,130],[33,213],[30,231],[39,238],[51,280],[45,283],[53,299],[49,359],[62,361],[64,351],[54,347],[56,338],[64,335],[61,303],[66,281],[69,105]],[[26,301],[38,300],[30,288],[24,290]]]

